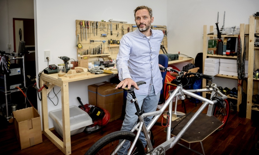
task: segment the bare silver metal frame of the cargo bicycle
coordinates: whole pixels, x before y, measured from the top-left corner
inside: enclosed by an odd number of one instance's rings
[[[135,146],[135,144],[137,142],[137,139],[139,138],[141,128],[142,128],[143,133],[145,135],[145,139],[147,140],[147,146],[148,146],[149,150],[153,150],[153,146],[151,144],[150,137],[149,137],[149,135],[147,133],[150,131],[151,127],[158,120],[158,118],[161,116],[161,114],[165,111],[165,108],[168,105],[169,105],[169,126],[167,127],[166,141],[159,145],[159,146],[164,147],[165,151],[169,150],[170,148],[172,148],[173,146],[175,146],[178,143],[178,141],[183,136],[183,134],[186,132],[186,130],[189,129],[191,124],[195,121],[195,119],[197,119],[197,117],[202,113],[202,111],[208,105],[209,105],[209,108],[208,108],[208,111],[207,111],[207,115],[208,116],[212,116],[214,104],[217,103],[217,101],[216,100],[211,101],[209,99],[203,98],[202,96],[194,94],[194,92],[205,92],[205,91],[215,92],[216,95],[222,96],[223,100],[227,99],[227,96],[223,95],[220,91],[217,90],[217,88],[214,88],[214,87],[213,88],[205,88],[205,89],[196,89],[196,90],[184,90],[182,85],[181,86],[177,86],[176,89],[172,92],[172,94],[170,95],[170,97],[167,99],[167,101],[161,107],[160,110],[154,111],[154,112],[147,112],[147,113],[144,113],[144,114],[142,114],[142,115],[140,115],[138,117],[140,122],[137,123],[137,125],[131,130],[131,132],[137,131],[137,135],[136,135],[136,138],[133,141],[132,146],[130,147],[130,150],[129,150],[128,154],[132,153],[133,148],[134,148],[134,146]],[[179,132],[179,134],[177,136],[171,138],[172,100],[176,96],[183,96],[184,94],[188,95],[188,96],[191,96],[193,98],[197,98],[197,99],[199,99],[200,101],[202,101],[204,103],[200,106],[200,108],[193,115],[193,117],[189,120],[189,122],[187,122],[187,124],[183,127],[183,129]],[[154,116],[154,118],[151,120],[149,125],[146,127],[146,125],[144,123],[144,118],[145,117],[149,117],[149,116]],[[121,145],[123,143],[125,143],[125,141],[126,140],[122,141]],[[116,153],[118,150],[119,150],[119,148],[116,148],[116,150],[112,154]]]

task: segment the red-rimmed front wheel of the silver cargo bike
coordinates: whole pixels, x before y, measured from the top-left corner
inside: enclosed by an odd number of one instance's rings
[[[226,126],[229,119],[230,103],[228,102],[228,100],[224,100],[223,103],[225,105],[226,115],[223,114],[223,108],[218,106],[215,106],[213,111],[213,115],[223,123],[223,125],[220,126],[217,130],[222,130]]]

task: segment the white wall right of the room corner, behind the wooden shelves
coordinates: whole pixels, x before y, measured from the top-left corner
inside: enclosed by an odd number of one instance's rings
[[[219,12],[219,27],[239,26],[249,24],[249,16],[258,12],[258,0],[168,0],[167,1],[167,31],[168,52],[180,51],[195,58],[203,52],[203,25],[209,26],[217,22]],[[237,80],[215,78],[213,82],[224,85],[223,88],[237,88]]]

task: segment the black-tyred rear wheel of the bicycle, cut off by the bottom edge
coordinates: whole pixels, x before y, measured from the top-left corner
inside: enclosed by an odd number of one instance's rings
[[[118,143],[120,139],[126,139],[129,140],[132,144],[134,141],[136,135],[129,131],[116,131],[113,133],[110,133],[101,139],[99,139],[96,143],[94,143],[93,146],[89,148],[89,150],[85,153],[85,155],[95,155],[95,154],[111,154],[114,149],[111,149],[111,145],[109,145],[111,142],[115,141],[115,145]],[[115,147],[112,143],[112,148]],[[136,150],[133,152],[133,154],[143,155],[145,154],[144,146],[140,139],[137,140],[137,143],[135,145]],[[101,153],[99,153],[101,151]],[[105,152],[107,151],[107,152]],[[137,152],[136,152],[137,151]]]

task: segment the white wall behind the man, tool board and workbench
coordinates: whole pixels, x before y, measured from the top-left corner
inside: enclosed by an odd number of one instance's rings
[[[137,6],[147,5],[152,8],[154,16],[154,25],[166,25],[166,0],[150,1],[150,0],[34,0],[36,8],[35,20],[37,20],[37,27],[35,27],[35,36],[37,35],[36,50],[36,65],[38,71],[42,71],[47,67],[47,62],[44,61],[44,50],[51,51],[50,64],[60,64],[62,60],[58,57],[67,56],[76,59],[76,19],[108,22],[109,19],[126,21],[128,23],[134,22],[133,10]],[[37,44],[37,45],[36,45]],[[38,72],[37,71],[37,72]],[[69,83],[69,105],[79,105],[76,97],[79,96],[83,103],[88,102],[87,86],[102,81],[109,81],[108,76],[105,78],[90,79],[78,82]],[[55,87],[55,92],[60,90]],[[51,92],[50,97],[54,94]],[[61,99],[59,93],[59,104],[54,106],[48,100],[49,111],[61,108]],[[57,102],[56,99],[53,100]],[[38,102],[39,111],[41,102]],[[49,128],[53,127],[52,120],[49,119]]]

